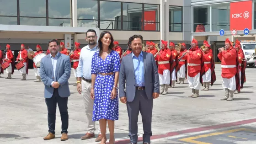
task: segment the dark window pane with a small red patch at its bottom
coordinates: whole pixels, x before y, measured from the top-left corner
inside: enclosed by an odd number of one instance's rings
[[[194,7],[193,32],[210,32],[209,8],[208,6]]]

